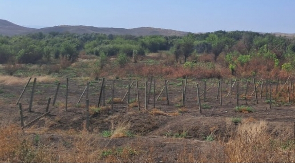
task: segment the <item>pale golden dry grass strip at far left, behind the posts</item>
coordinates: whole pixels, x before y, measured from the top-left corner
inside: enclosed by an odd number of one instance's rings
[[[34,76],[30,82],[34,82]],[[45,75],[45,76],[36,76],[37,82],[53,82],[55,78]],[[28,82],[29,78],[20,78],[16,76],[0,75],[0,85],[25,85]]]

